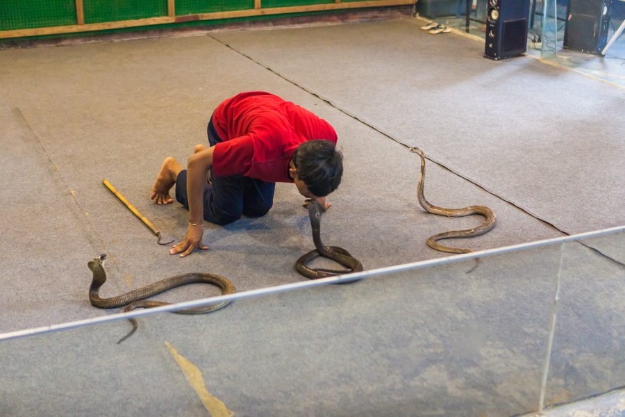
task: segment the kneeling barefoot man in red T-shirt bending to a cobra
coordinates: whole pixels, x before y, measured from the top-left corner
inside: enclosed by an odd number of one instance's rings
[[[268,92],[242,92],[217,106],[208,122],[210,147],[197,145],[185,170],[166,158],[154,183],[154,204],[176,200],[189,210],[185,238],[170,254],[187,256],[202,243],[203,220],[228,224],[272,207],[276,182],[294,183],[326,210],[343,174],[333,127],[305,108]],[[208,179],[208,181],[207,181]]]

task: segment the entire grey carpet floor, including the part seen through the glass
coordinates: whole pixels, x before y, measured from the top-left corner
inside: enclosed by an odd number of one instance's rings
[[[445,256],[425,239],[481,221],[424,212],[419,161],[401,144],[426,152],[431,202],[497,213],[490,233],[453,244],[483,250],[625,223],[622,90],[532,58],[494,63],[482,44],[421,23],[0,51],[0,332],[106,314],[87,298],[86,264],[101,253],[104,296],[192,271],[238,291],[303,280],[293,263],[312,239],[292,186],[278,184],[263,218],[207,224],[210,250],[180,259],[102,185],[182,238],[188,213],[148,198],[160,163],[184,164],[206,143],[213,108],[244,90],[335,126],[345,174],[322,236],[365,269]],[[625,385],[624,242],[565,248],[547,404]],[[470,274],[467,261],[210,316],[161,314],[122,345],[123,321],[4,341],[0,414],[206,416],[165,342],[238,416],[522,414],[538,400],[558,256],[545,247],[485,258]]]

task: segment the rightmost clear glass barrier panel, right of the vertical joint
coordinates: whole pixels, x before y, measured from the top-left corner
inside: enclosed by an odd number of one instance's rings
[[[545,404],[625,386],[625,233],[565,244]]]

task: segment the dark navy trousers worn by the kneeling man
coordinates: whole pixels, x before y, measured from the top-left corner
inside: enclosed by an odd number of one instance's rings
[[[213,126],[213,117],[208,122],[207,132],[210,146],[222,142]],[[208,222],[228,224],[242,215],[259,217],[267,214],[274,204],[276,183],[244,177],[243,174],[215,177],[213,168],[210,168],[210,182],[204,187],[204,220]],[[187,170],[178,174],[176,199],[189,209]]]

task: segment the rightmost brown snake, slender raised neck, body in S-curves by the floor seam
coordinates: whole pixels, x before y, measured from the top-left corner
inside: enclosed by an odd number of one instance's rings
[[[426,211],[428,211],[428,213],[437,214],[437,215],[447,215],[448,217],[463,217],[465,215],[479,214],[479,215],[483,215],[486,218],[486,220],[482,224],[480,224],[478,227],[475,227],[474,229],[445,231],[443,233],[430,236],[428,240],[426,240],[426,244],[435,250],[440,250],[442,252],[449,252],[453,254],[466,254],[469,252],[473,252],[470,249],[443,246],[437,243],[437,240],[452,239],[452,238],[472,238],[474,236],[480,236],[482,234],[485,234],[487,231],[490,231],[490,229],[494,227],[495,222],[497,221],[497,217],[492,213],[492,210],[486,206],[468,206],[465,208],[442,208],[442,207],[437,207],[437,206],[434,206],[433,204],[428,203],[425,196],[423,195],[424,177],[425,177],[425,156],[423,154],[423,151],[416,147],[410,148],[410,152],[419,154],[419,156],[421,157],[421,172],[419,172],[419,183],[417,184],[417,199],[419,199],[419,204],[421,204],[421,206]],[[468,272],[471,272],[471,271],[468,271]]]

